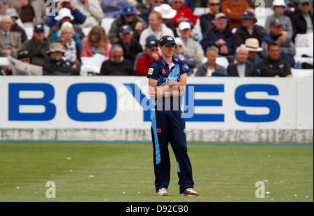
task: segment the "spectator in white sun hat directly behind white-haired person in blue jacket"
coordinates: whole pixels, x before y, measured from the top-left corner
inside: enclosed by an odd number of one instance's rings
[[[57,38],[59,38],[59,30],[61,28],[61,25],[64,22],[71,22],[73,24],[74,17],[73,17],[73,15],[71,15],[70,9],[61,8],[59,10],[59,15],[57,15],[57,17],[55,17],[54,19],[57,20],[58,23],[56,25],[54,25],[54,27],[50,28],[49,36],[48,36],[48,40],[50,42],[52,42],[52,41],[55,42],[57,40]],[[80,25],[79,24],[73,24],[73,28],[75,29],[75,31],[74,31],[75,37],[82,39],[84,37],[84,34],[82,32]]]

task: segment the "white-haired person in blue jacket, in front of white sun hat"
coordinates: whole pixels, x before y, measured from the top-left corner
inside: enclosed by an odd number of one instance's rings
[[[57,41],[58,38],[52,41],[52,43]],[[66,41],[66,52],[64,52],[65,59],[71,64],[80,62],[82,43],[79,38],[75,38],[73,25],[70,22],[64,22],[62,24],[60,38],[64,38]]]

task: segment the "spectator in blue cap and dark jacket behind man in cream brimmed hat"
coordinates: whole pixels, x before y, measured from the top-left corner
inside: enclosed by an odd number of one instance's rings
[[[247,38],[256,38],[259,44],[261,44],[262,39],[267,36],[267,32],[263,27],[255,24],[255,22],[257,22],[255,15],[246,10],[239,19],[241,20],[241,25],[234,33],[234,48],[244,44]]]

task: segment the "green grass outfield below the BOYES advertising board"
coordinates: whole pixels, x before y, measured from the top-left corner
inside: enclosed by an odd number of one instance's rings
[[[200,196],[179,196],[170,147],[170,196],[160,197],[152,146],[145,142],[1,141],[0,201],[313,202],[313,143],[198,144],[189,144],[188,154]],[[55,182],[55,199],[46,198],[48,181]],[[264,181],[263,199],[255,197],[257,181]]]

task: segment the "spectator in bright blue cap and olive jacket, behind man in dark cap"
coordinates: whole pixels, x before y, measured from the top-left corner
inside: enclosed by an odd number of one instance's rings
[[[133,38],[137,41],[140,40],[140,35],[142,34],[142,31],[147,28],[147,24],[142,17],[135,15],[137,11],[138,10],[131,5],[124,6],[119,17],[115,18],[111,24],[109,31],[111,43],[119,41],[119,30],[124,24],[130,25],[133,31]]]

